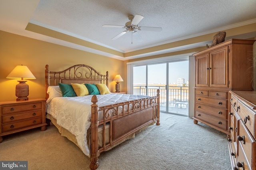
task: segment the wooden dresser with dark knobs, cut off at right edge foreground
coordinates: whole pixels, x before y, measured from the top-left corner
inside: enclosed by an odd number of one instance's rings
[[[256,170],[256,92],[230,91],[230,139],[233,170]]]

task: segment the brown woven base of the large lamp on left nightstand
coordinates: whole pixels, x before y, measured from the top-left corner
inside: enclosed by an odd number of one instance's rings
[[[20,82],[16,85],[16,93],[15,95],[18,97],[16,101],[28,100],[28,84],[26,84],[26,80],[18,80]]]

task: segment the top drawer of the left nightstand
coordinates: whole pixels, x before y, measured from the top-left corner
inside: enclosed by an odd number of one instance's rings
[[[42,102],[34,102],[28,104],[12,104],[12,105],[4,105],[2,106],[2,115],[10,114],[10,113],[18,113],[23,111],[30,110],[39,110],[42,109]]]

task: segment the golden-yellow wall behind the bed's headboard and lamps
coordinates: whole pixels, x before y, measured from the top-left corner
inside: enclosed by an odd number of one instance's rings
[[[0,101],[16,100],[15,79],[7,79],[6,76],[16,65],[26,65],[36,77],[28,80],[28,98],[45,98],[45,65],[50,70],[64,70],[75,64],[86,64],[95,68],[101,74],[109,73],[110,91],[115,91],[115,82],[112,82],[116,74],[121,74],[124,82],[120,82],[120,90],[126,91],[126,64],[124,61],[88,53],[85,51],[64,47],[20,35],[0,31]],[[124,67],[125,66],[125,67]]]

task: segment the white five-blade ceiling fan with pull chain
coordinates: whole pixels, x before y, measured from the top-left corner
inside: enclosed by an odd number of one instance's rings
[[[125,26],[122,25],[102,25],[102,27],[116,27],[116,28],[125,28],[126,31],[123,31],[121,33],[119,33],[118,35],[116,35],[115,37],[112,38],[112,40],[118,39],[119,37],[121,37],[122,35],[124,35],[125,33],[127,33],[128,31],[132,33],[132,35],[134,35],[134,37],[137,39],[137,41],[142,41],[142,37],[140,36],[140,34],[137,32],[139,31],[157,31],[160,32],[162,31],[161,27],[139,27],[138,23],[144,18],[144,16],[136,14],[135,16],[130,15],[128,16],[128,19],[130,21],[126,22]]]

